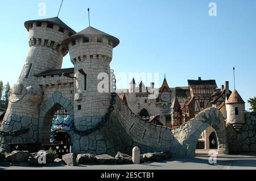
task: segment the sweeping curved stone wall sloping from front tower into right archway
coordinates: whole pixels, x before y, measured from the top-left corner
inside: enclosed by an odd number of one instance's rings
[[[177,127],[170,129],[151,124],[140,119],[127,107],[118,96],[115,97],[114,111],[110,119],[96,131],[87,136],[75,134],[73,151],[75,153],[110,154],[117,151],[131,154],[134,146],[139,146],[142,153],[151,151],[171,151],[176,155],[195,154],[197,140],[206,128],[216,129],[219,153],[228,153],[224,118],[216,108],[209,108]],[[76,127],[90,129],[102,117],[86,117],[75,121]],[[77,125],[77,123],[80,123]]]

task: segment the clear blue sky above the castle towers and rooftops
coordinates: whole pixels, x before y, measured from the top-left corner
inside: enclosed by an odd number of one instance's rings
[[[46,16],[38,15],[39,2],[46,3]],[[13,85],[22,70],[29,50],[23,23],[56,16],[60,2],[1,2],[0,80]],[[217,16],[209,16],[210,2]],[[159,73],[160,83],[166,74],[171,87],[197,77],[216,79],[218,87],[230,81],[233,90],[235,66],[242,98],[256,96],[256,1],[64,0],[59,18],[81,31],[88,27],[88,7],[91,26],[121,41],[110,64],[115,73]],[[63,68],[72,66],[67,55]]]

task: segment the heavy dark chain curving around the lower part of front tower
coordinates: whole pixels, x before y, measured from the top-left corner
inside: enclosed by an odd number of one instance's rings
[[[114,111],[114,104],[115,104],[115,92],[112,92],[112,98],[110,100],[110,106],[108,108],[108,112],[104,115],[103,119],[100,121],[100,123],[98,123],[96,125],[96,127],[92,128],[92,129],[88,129],[88,130],[85,130],[85,131],[79,131],[76,129],[75,127],[75,124],[74,124],[74,121],[72,123],[72,130],[76,133],[76,134],[79,134],[81,136],[85,136],[85,135],[88,135],[94,131],[96,131],[96,129],[100,128],[104,123],[106,123],[106,121],[109,120],[110,118],[110,114]]]

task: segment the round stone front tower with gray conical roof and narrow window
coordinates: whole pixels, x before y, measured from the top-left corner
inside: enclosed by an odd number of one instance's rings
[[[63,41],[74,64],[74,123],[77,131],[90,132],[104,120],[112,94],[110,92],[110,62],[116,37],[93,27]],[[73,151],[86,151],[86,136],[74,134]]]

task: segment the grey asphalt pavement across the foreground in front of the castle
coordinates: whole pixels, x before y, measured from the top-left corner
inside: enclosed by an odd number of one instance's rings
[[[210,159],[212,162],[214,159]],[[216,163],[209,163],[209,155],[199,153],[195,157],[173,156],[164,162],[151,162],[139,165],[48,165],[27,166],[14,165],[14,163],[0,163],[0,170],[233,170],[254,169],[256,170],[256,153],[240,155],[217,155]]]

